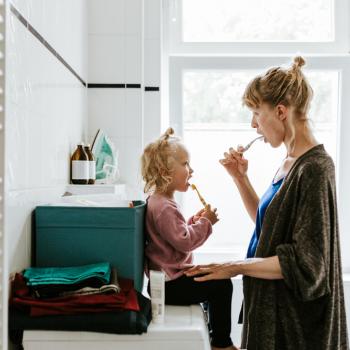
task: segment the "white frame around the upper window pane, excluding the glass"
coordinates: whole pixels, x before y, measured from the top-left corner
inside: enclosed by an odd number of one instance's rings
[[[350,24],[348,0],[333,0],[334,40],[327,42],[313,41],[264,41],[264,42],[184,42],[182,37],[182,1],[166,0],[168,7],[165,16],[169,27],[170,54],[271,54],[278,53],[349,53]],[[185,0],[186,1],[186,0]],[[235,0],[238,1],[238,0]],[[243,0],[241,0],[243,1]]]

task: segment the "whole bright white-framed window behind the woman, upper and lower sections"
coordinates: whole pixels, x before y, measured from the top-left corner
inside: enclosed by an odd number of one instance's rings
[[[221,218],[199,253],[219,252],[223,259],[245,256],[254,223],[218,160],[230,146],[246,144],[256,136],[249,110],[241,102],[249,80],[271,66],[289,64],[296,54],[306,58],[304,73],[314,89],[311,125],[336,163],[342,246],[350,244],[346,235],[350,218],[345,215],[350,205],[350,195],[346,196],[350,166],[345,161],[350,123],[343,118],[350,115],[345,94],[350,85],[346,6],[345,1],[332,0],[169,2],[165,24],[170,38],[170,123],[190,150],[193,182]],[[278,21],[281,13],[283,28]],[[248,152],[250,180],[262,195],[285,149],[258,142]],[[180,201],[186,216],[200,208],[194,192]],[[350,271],[350,258],[344,256],[344,270]]]

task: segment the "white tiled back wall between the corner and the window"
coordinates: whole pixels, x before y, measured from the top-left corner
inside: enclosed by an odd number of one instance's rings
[[[140,198],[139,159],[160,133],[161,0],[89,0],[89,140],[103,129],[119,182]]]

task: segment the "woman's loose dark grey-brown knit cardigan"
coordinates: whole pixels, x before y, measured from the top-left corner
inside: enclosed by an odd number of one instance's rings
[[[268,206],[256,257],[282,280],[244,277],[242,348],[348,349],[334,165],[322,145],[294,163]]]

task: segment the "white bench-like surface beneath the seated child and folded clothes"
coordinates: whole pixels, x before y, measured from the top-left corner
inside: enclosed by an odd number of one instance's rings
[[[208,329],[199,305],[165,307],[164,324],[150,323],[147,333],[25,331],[25,350],[210,350]]]

